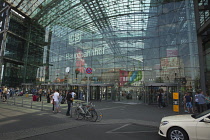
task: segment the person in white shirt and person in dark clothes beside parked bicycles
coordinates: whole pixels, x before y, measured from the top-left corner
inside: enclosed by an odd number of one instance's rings
[[[66,111],[66,116],[70,116],[70,110],[71,110],[71,106],[73,105],[73,100],[76,96],[76,93],[74,91],[67,91],[65,96],[62,96],[59,93],[59,90],[55,90],[55,92],[51,95],[49,95],[50,99],[51,99],[51,103],[53,104],[53,112],[54,113],[58,113],[61,112],[60,109],[60,103],[63,100],[63,98],[65,98],[66,103],[68,105],[68,109]]]

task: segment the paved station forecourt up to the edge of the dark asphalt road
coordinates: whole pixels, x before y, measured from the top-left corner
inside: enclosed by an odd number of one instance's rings
[[[22,98],[24,105],[22,105]],[[159,109],[157,106],[145,104],[128,104],[115,102],[94,102],[96,110],[103,113],[100,122],[88,122],[85,120],[75,120],[65,116],[67,104],[61,104],[61,113],[52,113],[52,104],[42,102],[32,102],[26,97],[17,97],[16,105],[12,102],[0,102],[0,139],[13,140],[30,138],[46,133],[57,132],[69,128],[80,127],[83,125],[103,125],[103,124],[136,124],[157,128],[160,119],[168,115],[176,115],[172,107],[168,106]],[[74,106],[76,104],[74,103]],[[74,108],[73,108],[74,110]]]

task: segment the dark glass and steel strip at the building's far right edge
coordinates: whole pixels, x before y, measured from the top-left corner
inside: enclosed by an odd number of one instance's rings
[[[208,95],[210,95],[210,28],[209,28],[209,20],[210,20],[210,0],[199,0],[195,1],[195,9],[197,8],[197,23],[198,23],[198,37],[200,38],[200,49],[202,54],[200,55],[203,59],[203,64],[201,64],[201,68],[203,68],[203,75],[201,79],[205,81],[205,83],[201,83]],[[202,60],[201,59],[201,60]],[[201,71],[202,72],[202,71]]]

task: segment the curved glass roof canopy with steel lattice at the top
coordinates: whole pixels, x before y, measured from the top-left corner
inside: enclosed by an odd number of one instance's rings
[[[153,15],[151,7],[159,3],[157,0],[4,1],[54,34],[62,36],[63,40],[68,40],[65,38],[67,34],[80,30],[86,34],[86,40],[93,36],[107,40],[110,53],[119,54],[119,59],[124,59],[122,52],[125,50],[131,54],[138,51],[137,56],[127,56],[137,62],[142,60],[144,39],[151,35],[146,33],[152,24],[150,22],[148,25],[148,17]]]

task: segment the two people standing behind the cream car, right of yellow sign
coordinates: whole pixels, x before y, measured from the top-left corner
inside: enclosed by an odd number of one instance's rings
[[[210,96],[205,96],[203,92],[197,92],[195,94],[195,109],[193,108],[193,97],[189,92],[185,93],[183,97],[184,111],[187,113],[201,113],[210,109]]]

